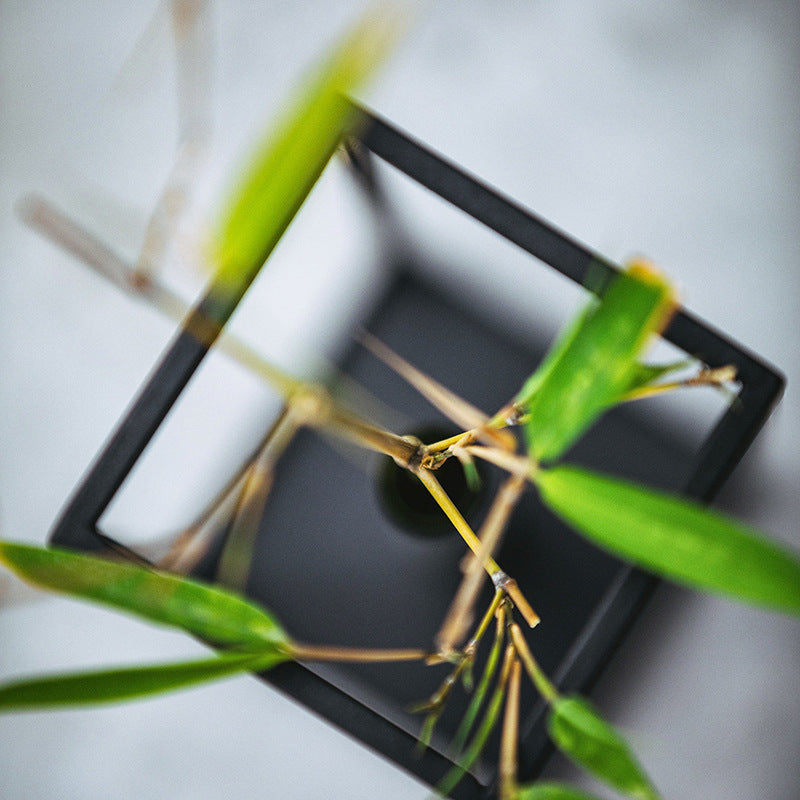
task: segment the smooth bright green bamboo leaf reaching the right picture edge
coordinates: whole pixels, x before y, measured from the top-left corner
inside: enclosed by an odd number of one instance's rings
[[[544,502],[578,532],[667,578],[800,614],[800,558],[691,501],[578,467],[540,470]]]

